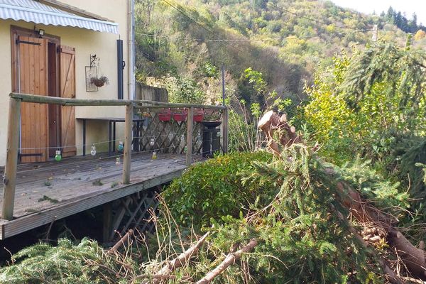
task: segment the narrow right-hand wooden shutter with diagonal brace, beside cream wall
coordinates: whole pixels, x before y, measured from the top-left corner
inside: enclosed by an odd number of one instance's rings
[[[60,51],[60,97],[75,98],[75,48],[61,45]],[[62,157],[76,154],[75,107],[61,107],[60,132]]]

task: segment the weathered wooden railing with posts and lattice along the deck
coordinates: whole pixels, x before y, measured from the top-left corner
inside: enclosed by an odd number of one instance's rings
[[[33,94],[11,93],[9,101],[8,138],[6,146],[6,166],[4,169],[4,193],[1,208],[1,218],[13,219],[13,207],[15,200],[16,171],[18,166],[18,145],[21,102],[38,104],[56,104],[72,107],[101,107],[101,106],[124,106],[126,107],[125,131],[124,131],[124,157],[123,157],[123,184],[130,183],[131,172],[131,146],[133,136],[134,109],[149,109],[150,117],[148,125],[138,133],[139,151],[155,150],[168,153],[184,153],[186,148],[186,163],[192,163],[193,153],[200,153],[201,125],[194,123],[195,109],[211,109],[220,111],[222,115],[222,151],[227,152],[228,144],[228,109],[224,106],[209,106],[202,104],[169,104],[164,102],[122,100],[122,99],[65,99],[59,97],[38,96]],[[185,121],[160,121],[158,114],[161,109],[187,109]],[[161,131],[161,132],[158,132]],[[185,141],[182,134],[186,133]],[[151,138],[155,137],[155,145],[151,146]],[[150,139],[150,141],[147,141]],[[149,146],[148,146],[149,145]],[[185,147],[186,146],[186,147]],[[134,147],[134,146],[133,146]],[[149,148],[151,147],[151,148]],[[182,148],[183,147],[183,148]]]

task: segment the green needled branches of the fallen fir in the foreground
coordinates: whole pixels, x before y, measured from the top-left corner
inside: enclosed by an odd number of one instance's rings
[[[228,161],[232,155],[240,156],[231,154]],[[67,240],[60,240],[58,246],[38,244],[16,254],[14,265],[0,271],[0,282],[116,284],[151,283],[154,279],[167,283],[196,282],[247,244],[253,246],[215,275],[214,283],[384,282],[376,254],[352,231],[354,226],[357,229],[361,226],[342,217],[349,212],[342,205],[346,193],[339,188],[339,182],[366,193],[368,199],[388,214],[398,214],[398,209],[406,205],[407,196],[398,191],[397,185],[381,179],[361,160],[343,168],[324,163],[302,144],[285,148],[272,160],[264,155],[257,158],[251,166],[245,164],[233,172],[241,178],[241,184],[227,190],[250,190],[254,184],[262,188],[262,197],[248,198],[245,204],[240,200],[243,204],[239,214],[234,214],[231,208],[229,212],[215,213],[219,215],[210,219],[212,226],[200,228],[209,232],[206,241],[200,244],[190,262],[176,266],[173,273],[159,274],[197,242],[195,234],[200,235],[200,231],[192,231],[191,225],[182,226],[175,219],[182,212],[163,203],[160,217],[153,214],[151,219],[155,235],[138,236],[133,246],[127,246],[121,253],[109,256],[96,242],[87,239],[77,246]],[[217,161],[225,160],[222,157]],[[200,190],[194,179],[200,178],[203,166],[190,168],[181,180],[192,183],[176,180],[171,192],[178,185],[185,186],[181,188],[185,192],[191,192],[191,187]],[[232,167],[227,169],[234,171]],[[214,170],[210,173],[217,174]],[[166,195],[171,192],[166,190]],[[192,198],[195,199],[176,195],[174,201],[200,204],[204,196]],[[214,197],[210,198],[214,202]],[[197,214],[204,216],[208,211],[209,208],[198,209]],[[386,246],[382,244],[379,251],[386,252]]]

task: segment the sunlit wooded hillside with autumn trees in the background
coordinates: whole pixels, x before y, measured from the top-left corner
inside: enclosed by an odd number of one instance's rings
[[[331,1],[139,0],[137,78],[180,77],[178,84],[214,101],[221,95],[224,65],[228,94],[262,104],[243,75],[251,67],[263,74],[268,89],[298,102],[314,70],[331,65],[341,50],[351,53],[371,43],[375,24],[379,40],[405,45],[406,33],[390,17],[367,16]],[[413,46],[424,41],[419,34]]]

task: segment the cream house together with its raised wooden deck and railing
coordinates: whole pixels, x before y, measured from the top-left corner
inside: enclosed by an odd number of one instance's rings
[[[133,1],[0,0],[0,240],[99,206],[113,239],[149,218],[157,187],[212,150],[219,136],[202,138],[195,109],[227,125],[224,106],[135,97]],[[102,77],[109,84],[97,86]],[[226,152],[227,127],[220,137]],[[97,155],[114,139],[122,154]]]

